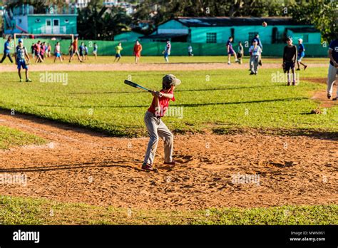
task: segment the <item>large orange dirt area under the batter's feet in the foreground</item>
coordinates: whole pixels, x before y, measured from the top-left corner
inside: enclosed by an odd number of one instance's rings
[[[45,197],[137,209],[205,209],[338,203],[338,141],[258,134],[176,135],[175,167],[140,170],[147,138],[109,138],[81,128],[0,112],[0,125],[49,140],[0,152],[1,173],[25,173],[26,187],[0,195]],[[251,183],[232,175],[260,175]],[[257,177],[256,177],[257,178]]]

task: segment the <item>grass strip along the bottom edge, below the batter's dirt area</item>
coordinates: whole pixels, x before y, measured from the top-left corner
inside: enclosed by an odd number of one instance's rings
[[[0,224],[338,224],[338,206],[128,210],[0,196]]]

